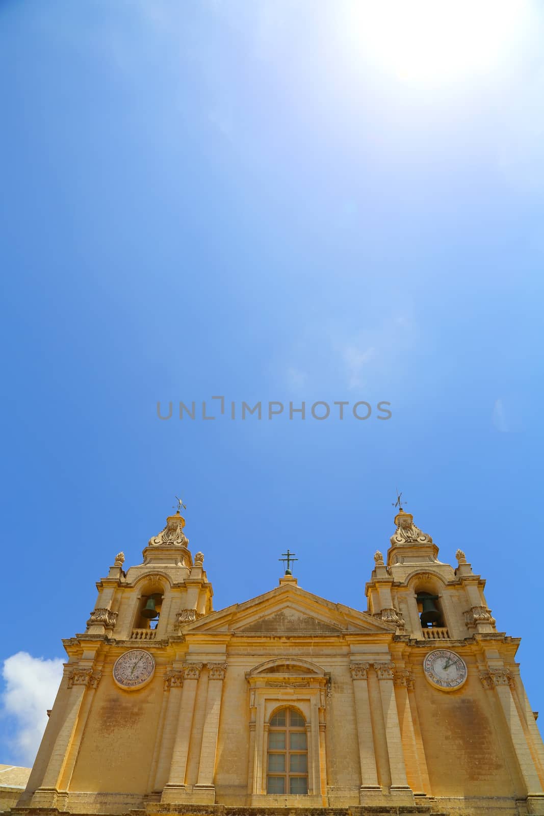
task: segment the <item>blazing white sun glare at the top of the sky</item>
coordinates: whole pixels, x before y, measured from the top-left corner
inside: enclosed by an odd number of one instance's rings
[[[344,23],[365,60],[400,78],[434,83],[492,69],[513,46],[528,5],[529,0],[354,0]]]

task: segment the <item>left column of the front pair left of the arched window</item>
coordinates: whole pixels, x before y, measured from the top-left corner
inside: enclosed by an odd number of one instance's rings
[[[202,663],[184,663],[183,680],[176,681],[179,686],[178,715],[175,717],[175,738],[172,747],[170,773],[168,782],[162,791],[162,802],[175,802],[180,796],[184,797],[185,773],[187,770],[187,758],[191,743],[192,717],[195,708],[195,698],[197,696],[198,678],[200,677]],[[181,672],[179,672],[181,674]],[[170,694],[172,692],[170,691]],[[170,710],[170,709],[169,709]],[[157,789],[160,790],[160,787]]]

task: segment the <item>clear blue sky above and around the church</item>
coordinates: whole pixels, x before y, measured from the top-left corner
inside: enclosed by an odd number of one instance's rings
[[[2,2],[0,659],[62,658],[179,491],[216,609],[286,547],[365,609],[399,486],[488,579],[544,710],[544,12],[521,6],[489,64],[414,77],[394,20],[340,0]],[[213,395],[286,409],[157,419]],[[28,764],[15,675],[0,761]]]

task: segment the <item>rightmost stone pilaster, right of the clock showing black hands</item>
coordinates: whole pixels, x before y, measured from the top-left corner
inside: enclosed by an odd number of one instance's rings
[[[542,791],[542,783],[538,778],[533,756],[527,739],[525,738],[524,727],[520,721],[520,715],[512,696],[512,677],[510,670],[506,667],[490,668],[487,672],[480,672],[480,680],[484,688],[488,690],[494,689],[497,693],[506,721],[506,728],[511,735],[515,756],[520,765],[521,776],[527,788],[528,796],[533,795],[534,800],[540,800],[538,805],[542,805],[542,807],[537,807],[537,809],[529,809],[529,813],[544,813],[544,792]]]

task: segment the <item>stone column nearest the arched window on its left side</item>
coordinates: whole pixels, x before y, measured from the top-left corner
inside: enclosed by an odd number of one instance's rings
[[[223,694],[223,680],[227,671],[227,663],[208,663],[208,670],[210,673],[208,675],[208,694],[206,695],[206,713],[202,732],[198,779],[193,792],[198,794],[196,801],[213,804],[215,802],[214,773],[217,735],[219,732],[219,712],[221,710],[221,695]]]

